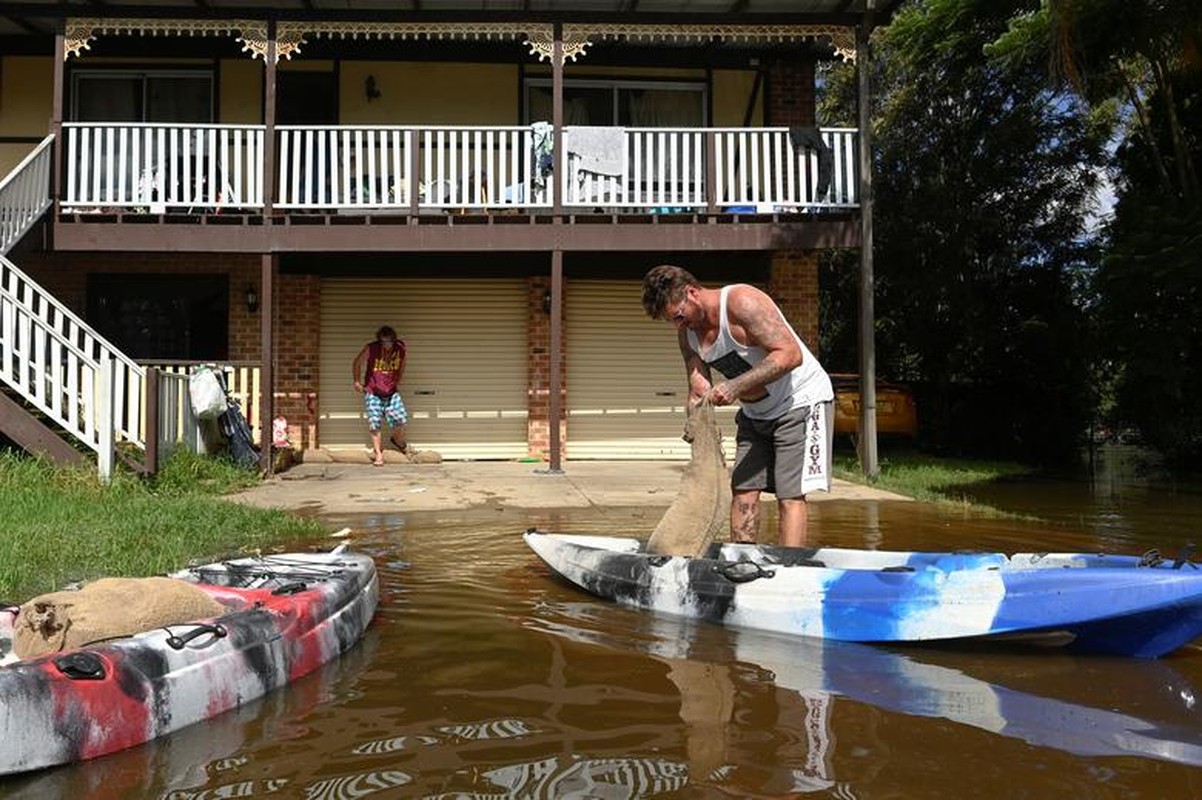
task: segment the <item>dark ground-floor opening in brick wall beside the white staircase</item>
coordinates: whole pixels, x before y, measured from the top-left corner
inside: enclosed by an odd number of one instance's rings
[[[88,320],[135,359],[230,357],[225,275],[91,275]]]

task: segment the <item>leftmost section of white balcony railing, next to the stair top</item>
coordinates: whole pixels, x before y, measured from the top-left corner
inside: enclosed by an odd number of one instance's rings
[[[262,125],[66,123],[66,209],[263,207]]]

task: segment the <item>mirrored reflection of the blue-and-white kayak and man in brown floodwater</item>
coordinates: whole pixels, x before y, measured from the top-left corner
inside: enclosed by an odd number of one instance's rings
[[[584,605],[542,609],[537,627],[572,641],[636,647],[662,661],[680,691],[689,762],[709,774],[730,758],[738,708],[767,680],[778,729],[797,728],[804,763],[793,792],[834,786],[837,698],[1053,747],[1075,756],[1138,756],[1202,765],[1202,708],[1191,682],[1167,661],[1073,658],[1005,649],[888,650],[750,631],[707,635],[682,620],[647,615],[633,629],[606,631]],[[631,620],[633,623],[633,620]],[[976,673],[976,674],[975,674]],[[1066,674],[1088,676],[1083,697],[1065,697]],[[1018,686],[1007,676],[1019,674]]]

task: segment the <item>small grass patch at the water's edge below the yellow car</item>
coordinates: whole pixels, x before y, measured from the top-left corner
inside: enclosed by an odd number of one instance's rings
[[[964,506],[987,514],[1004,514],[988,506],[974,503],[964,494],[964,486],[1031,473],[1030,467],[1008,461],[936,458],[915,452],[881,455],[879,464],[880,476],[875,480],[868,480],[861,472],[859,461],[853,453],[835,453],[834,474],[844,480],[923,502]]]

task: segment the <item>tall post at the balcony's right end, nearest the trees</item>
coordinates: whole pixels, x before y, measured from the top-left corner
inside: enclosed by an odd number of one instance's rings
[[[856,73],[859,82],[859,468],[868,478],[880,474],[876,460],[876,310],[873,304],[873,119],[868,38],[873,6],[856,30]]]

